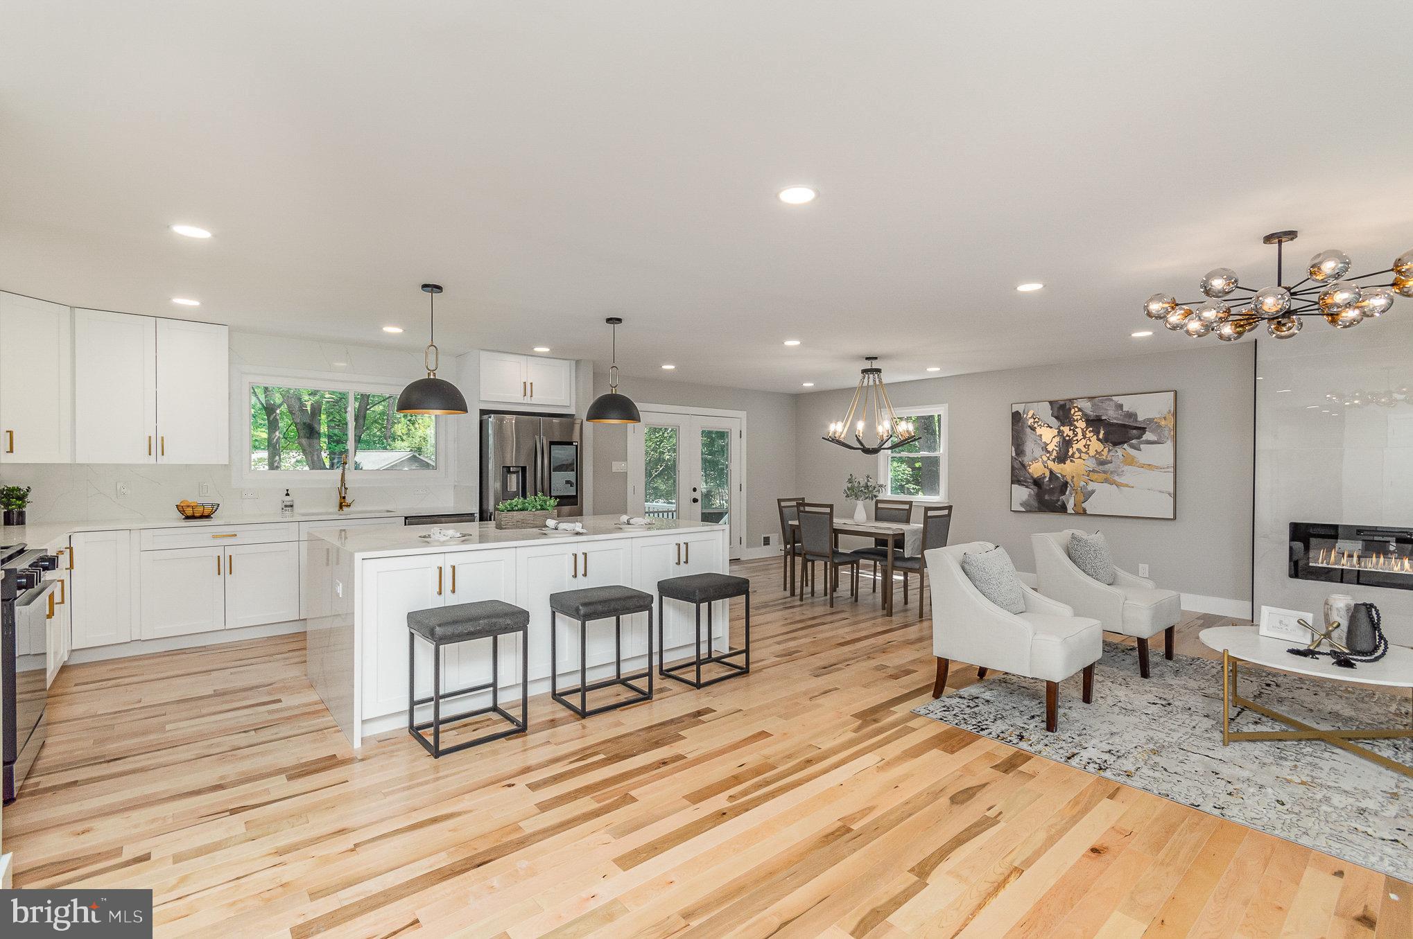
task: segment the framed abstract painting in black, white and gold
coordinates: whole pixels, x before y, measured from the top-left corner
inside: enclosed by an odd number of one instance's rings
[[[1177,517],[1177,393],[1010,405],[1010,510]]]

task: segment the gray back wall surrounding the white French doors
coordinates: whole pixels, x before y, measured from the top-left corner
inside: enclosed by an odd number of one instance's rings
[[[593,376],[593,394],[609,390],[606,373]],[[642,404],[722,408],[746,412],[746,544],[747,556],[760,554],[763,535],[780,544],[776,497],[796,496],[796,400],[793,394],[722,388],[620,376],[619,391]],[[593,511],[620,515],[627,511],[627,473],[615,473],[613,462],[627,460],[627,429],[612,424],[593,428]]]

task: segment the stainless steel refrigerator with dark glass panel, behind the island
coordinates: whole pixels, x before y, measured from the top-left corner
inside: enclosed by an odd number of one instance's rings
[[[582,515],[578,418],[528,414],[480,417],[480,518],[521,496],[554,496],[561,517]]]

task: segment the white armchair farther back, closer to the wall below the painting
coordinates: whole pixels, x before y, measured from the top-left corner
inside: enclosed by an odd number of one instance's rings
[[[1074,528],[1030,535],[1036,576],[1046,596],[1068,603],[1080,616],[1098,620],[1105,631],[1139,641],[1139,675],[1149,676],[1147,641],[1163,633],[1163,657],[1173,658],[1173,638],[1183,618],[1183,600],[1147,578],[1113,568],[1113,583],[1099,583],[1070,561]],[[1082,532],[1081,532],[1082,534]]]

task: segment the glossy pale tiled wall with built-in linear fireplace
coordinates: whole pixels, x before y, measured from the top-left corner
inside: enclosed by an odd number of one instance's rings
[[[1256,361],[1255,607],[1373,603],[1413,645],[1413,301],[1355,329],[1306,322]],[[1395,569],[1397,568],[1397,569]]]

